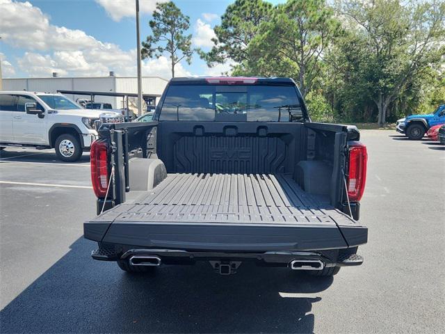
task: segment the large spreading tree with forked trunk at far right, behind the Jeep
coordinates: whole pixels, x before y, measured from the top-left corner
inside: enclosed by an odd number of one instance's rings
[[[391,105],[444,63],[445,2],[349,0],[339,10],[350,33],[341,46],[348,61],[343,74],[357,71],[352,81],[375,103],[382,126]]]

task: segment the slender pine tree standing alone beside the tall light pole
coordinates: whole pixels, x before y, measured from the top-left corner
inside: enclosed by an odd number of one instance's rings
[[[168,54],[172,67],[172,77],[175,77],[175,65],[186,60],[191,64],[193,50],[191,48],[192,35],[186,35],[190,28],[190,17],[181,13],[172,1],[156,3],[153,19],[149,21],[152,35],[142,42],[142,58],[159,58]]]

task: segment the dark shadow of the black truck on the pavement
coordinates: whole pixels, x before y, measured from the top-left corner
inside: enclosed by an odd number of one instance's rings
[[[94,247],[76,240],[1,310],[1,332],[312,333],[312,303],[333,282],[245,263],[231,276],[205,262],[132,276],[91,260]]]

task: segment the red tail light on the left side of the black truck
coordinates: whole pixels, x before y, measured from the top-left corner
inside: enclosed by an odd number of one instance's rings
[[[98,198],[106,196],[108,186],[108,146],[105,141],[94,141],[91,144],[91,182],[92,189]]]

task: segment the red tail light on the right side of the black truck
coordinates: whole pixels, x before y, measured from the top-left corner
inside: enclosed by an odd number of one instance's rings
[[[351,202],[358,202],[366,184],[366,146],[355,141],[349,145],[348,196]]]

